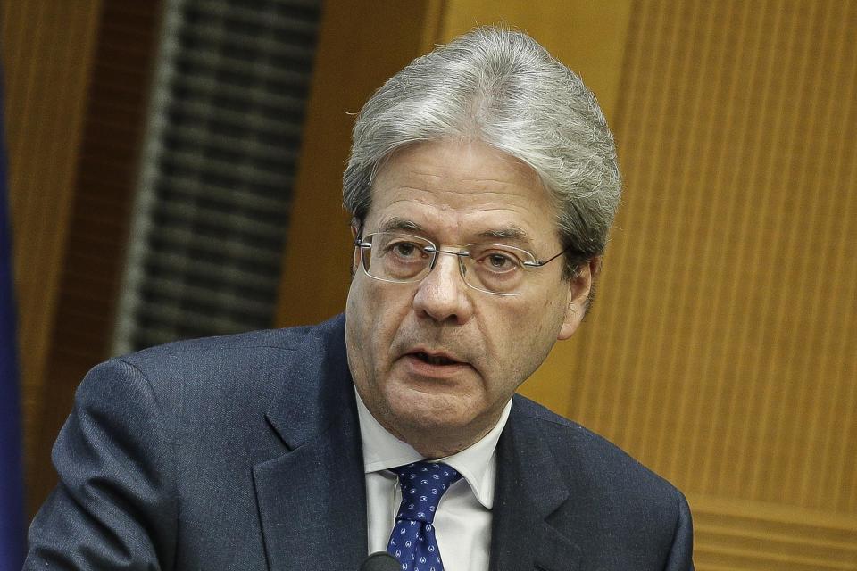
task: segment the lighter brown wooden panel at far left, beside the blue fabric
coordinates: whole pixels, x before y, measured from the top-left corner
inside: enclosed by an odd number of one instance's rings
[[[28,473],[47,461],[37,427],[100,11],[100,0],[0,3]]]

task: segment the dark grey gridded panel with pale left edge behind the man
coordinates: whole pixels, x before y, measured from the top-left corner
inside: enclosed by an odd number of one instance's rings
[[[320,12],[166,6],[112,351],[270,327]]]

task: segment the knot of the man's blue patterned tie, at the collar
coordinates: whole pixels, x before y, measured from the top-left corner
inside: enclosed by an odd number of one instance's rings
[[[462,475],[440,462],[414,462],[392,468],[402,486],[402,505],[396,520],[408,519],[428,524],[435,520],[440,497]]]

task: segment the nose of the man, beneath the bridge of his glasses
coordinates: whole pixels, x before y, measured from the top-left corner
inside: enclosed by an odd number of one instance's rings
[[[473,315],[473,291],[464,283],[459,257],[438,253],[435,268],[420,281],[413,308],[436,321],[453,319],[464,323]]]

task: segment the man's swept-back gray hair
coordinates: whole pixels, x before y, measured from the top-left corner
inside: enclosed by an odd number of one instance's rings
[[[612,133],[595,95],[532,37],[475,29],[387,80],[354,124],[345,208],[362,224],[391,153],[445,137],[478,139],[536,171],[556,205],[567,277],[603,254],[621,193]]]

